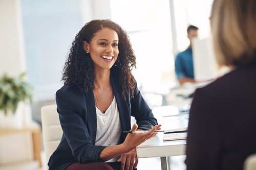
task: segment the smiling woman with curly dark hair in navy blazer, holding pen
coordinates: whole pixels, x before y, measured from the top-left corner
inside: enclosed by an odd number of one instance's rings
[[[135,65],[129,37],[117,23],[92,20],[79,31],[63,70],[64,85],[56,92],[64,135],[50,170],[136,168],[136,147],[161,125],[137,88]],[[131,116],[137,120],[132,128]],[[148,131],[122,134],[129,130]]]

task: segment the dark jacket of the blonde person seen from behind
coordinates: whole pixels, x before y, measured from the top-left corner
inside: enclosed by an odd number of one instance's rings
[[[256,153],[256,62],[196,90],[191,104],[187,170],[243,169]]]

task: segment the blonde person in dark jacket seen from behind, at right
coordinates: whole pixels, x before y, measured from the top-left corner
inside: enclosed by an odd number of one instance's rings
[[[186,165],[192,169],[243,169],[256,153],[256,1],[215,0],[210,17],[225,76],[196,90],[191,104]]]

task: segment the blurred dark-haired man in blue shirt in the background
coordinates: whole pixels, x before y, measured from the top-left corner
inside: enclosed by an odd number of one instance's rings
[[[195,83],[194,79],[194,66],[193,66],[193,54],[192,54],[192,39],[198,36],[198,28],[195,26],[189,26],[187,28],[187,38],[190,41],[188,48],[179,53],[175,60],[175,72],[180,85],[190,82]]]

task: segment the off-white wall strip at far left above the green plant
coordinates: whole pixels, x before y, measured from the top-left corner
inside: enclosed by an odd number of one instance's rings
[[[0,75],[25,71],[19,0],[0,0]]]

